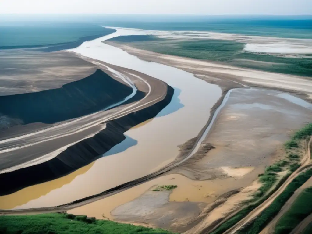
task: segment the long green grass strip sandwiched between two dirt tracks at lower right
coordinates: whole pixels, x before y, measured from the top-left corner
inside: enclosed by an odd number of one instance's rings
[[[312,169],[298,175],[269,207],[237,233],[258,234],[280,212],[285,202],[312,176]]]

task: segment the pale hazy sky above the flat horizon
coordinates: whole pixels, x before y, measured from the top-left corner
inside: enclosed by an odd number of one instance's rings
[[[3,13],[312,14],[312,0],[0,0]]]

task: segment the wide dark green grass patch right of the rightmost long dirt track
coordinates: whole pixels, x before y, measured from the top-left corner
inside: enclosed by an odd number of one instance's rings
[[[275,234],[290,233],[297,225],[312,213],[312,188],[306,188],[297,197],[290,209],[275,226]]]

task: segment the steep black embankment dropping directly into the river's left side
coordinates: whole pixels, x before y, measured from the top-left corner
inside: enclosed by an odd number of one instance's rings
[[[155,117],[172,99],[174,89],[167,85],[167,93],[157,103],[108,121],[106,128],[93,137],[68,147],[55,158],[41,164],[0,174],[0,195],[7,195],[22,188],[43,183],[71,173],[97,159],[125,139],[124,132]]]

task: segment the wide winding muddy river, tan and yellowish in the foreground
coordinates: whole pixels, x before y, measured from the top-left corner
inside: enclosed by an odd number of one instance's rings
[[[212,106],[221,97],[217,85],[170,66],[142,61],[102,43],[112,37],[144,34],[117,32],[71,49],[82,56],[136,70],[163,80],[175,90],[171,103],[155,118],[125,133],[126,139],[97,161],[53,181],[0,197],[0,209],[25,209],[65,204],[143,177],[172,162],[178,145],[196,137],[207,123]]]

